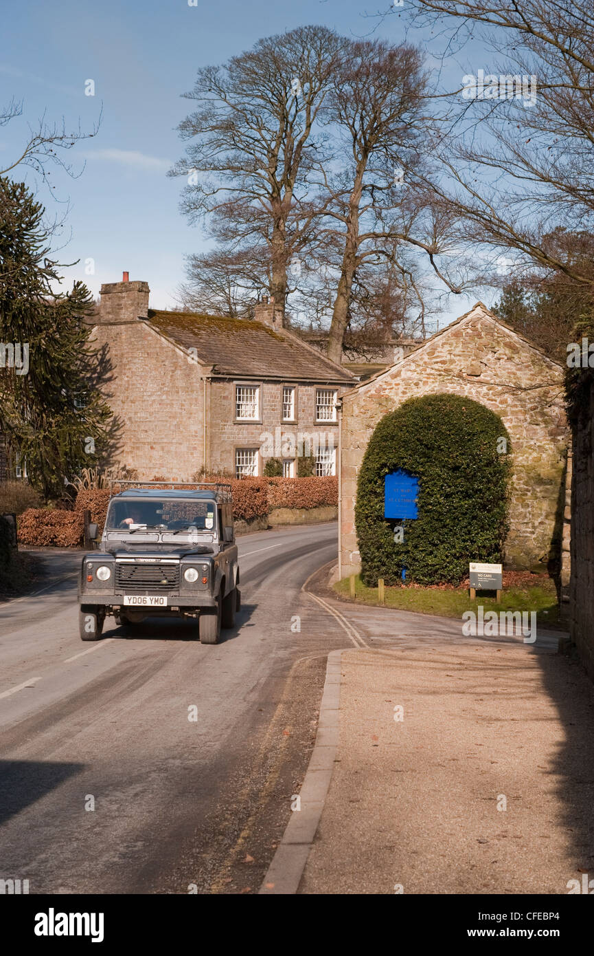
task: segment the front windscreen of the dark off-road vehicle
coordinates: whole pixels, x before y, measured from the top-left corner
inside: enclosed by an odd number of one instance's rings
[[[122,532],[159,529],[190,534],[216,533],[217,506],[214,501],[114,499],[110,502],[105,528]]]

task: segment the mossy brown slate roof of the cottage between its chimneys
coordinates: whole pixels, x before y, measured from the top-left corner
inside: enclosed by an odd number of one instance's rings
[[[148,324],[182,348],[196,349],[197,358],[213,365],[213,375],[246,379],[354,384],[346,369],[335,365],[286,329],[278,332],[262,322],[226,315],[148,310]]]

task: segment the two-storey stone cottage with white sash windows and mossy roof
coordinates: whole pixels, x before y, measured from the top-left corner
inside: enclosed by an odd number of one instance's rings
[[[122,424],[113,464],[189,481],[202,467],[261,475],[268,458],[336,473],[337,398],[350,372],[286,329],[273,301],[253,320],[149,309],[146,282],[101,286],[93,338],[106,345],[106,398]]]

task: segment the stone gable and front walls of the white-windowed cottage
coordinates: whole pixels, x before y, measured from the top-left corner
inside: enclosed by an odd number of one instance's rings
[[[106,398],[122,423],[113,465],[138,470],[141,481],[162,475],[170,481],[190,481],[203,462],[203,368],[174,345],[160,338],[146,322],[100,323],[95,339],[107,343],[113,363]],[[291,384],[291,382],[286,382]],[[262,418],[235,421],[235,380],[206,382],[206,461],[215,471],[235,474],[235,449],[260,448],[262,436],[276,440],[299,432],[317,434],[319,441],[338,448],[338,425],[314,424],[315,385],[298,385],[297,422],[282,423],[283,385],[260,382]],[[324,383],[320,383],[324,387]],[[283,447],[274,457],[288,457]],[[307,450],[304,448],[304,451]],[[265,459],[260,456],[259,474]]]

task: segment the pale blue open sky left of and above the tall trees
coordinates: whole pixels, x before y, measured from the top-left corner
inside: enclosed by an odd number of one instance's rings
[[[66,245],[56,258],[80,260],[63,270],[67,286],[80,278],[96,294],[101,283],[118,281],[126,270],[131,279],[149,282],[153,307],[175,305],[184,254],[204,248],[201,229],[180,214],[180,181],[165,175],[183,151],[176,126],[192,104],[180,94],[191,89],[198,67],[223,62],[261,36],[308,23],[358,36],[377,27],[377,35],[399,42],[403,18],[392,15],[378,25],[364,16],[389,2],[371,0],[366,8],[356,0],[197,0],[197,6],[188,0],[4,0],[8,30],[0,39],[0,102],[23,99],[24,114],[0,128],[0,167],[17,155],[28,124],[42,114],[49,121],[64,117],[68,128],[80,121],[90,130],[102,106],[96,137],[68,154],[75,171],[84,165],[80,177],[52,173],[53,195],[70,204]],[[458,64],[451,67],[459,79]],[[94,97],[85,96],[89,79]],[[33,185],[31,173],[25,178]],[[39,197],[51,215],[66,209],[44,186]],[[89,259],[95,274],[88,274]],[[456,296],[444,319],[476,299]]]

